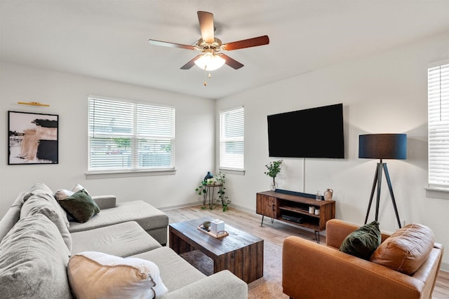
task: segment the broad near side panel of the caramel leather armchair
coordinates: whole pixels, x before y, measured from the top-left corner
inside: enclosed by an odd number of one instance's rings
[[[300,237],[283,241],[282,286],[291,298],[421,298],[426,282]]]

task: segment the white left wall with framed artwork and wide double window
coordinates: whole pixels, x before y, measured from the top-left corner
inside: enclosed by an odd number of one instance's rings
[[[86,179],[89,94],[173,105],[176,174]],[[79,182],[93,195],[113,194],[119,202],[145,200],[155,207],[198,202],[194,188],[214,165],[214,107],[209,99],[0,62],[0,217],[20,191],[36,182],[52,190]],[[7,165],[7,111],[59,115],[58,165]]]

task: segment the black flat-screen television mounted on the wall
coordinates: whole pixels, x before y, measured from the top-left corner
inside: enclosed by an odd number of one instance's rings
[[[344,158],[343,104],[267,116],[268,151],[279,158]]]

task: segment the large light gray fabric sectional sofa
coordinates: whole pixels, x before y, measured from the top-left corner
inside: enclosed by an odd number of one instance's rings
[[[168,216],[162,211],[140,200],[116,204],[114,196],[92,198],[100,213],[76,223],[67,221],[64,209],[43,183],[20,193],[0,221],[1,298],[76,298],[69,260],[86,251],[154,263],[159,273],[153,274],[160,274],[168,290],[158,298],[248,298],[247,284],[232,272],[206,277],[162,245],[168,227]],[[98,288],[98,293],[91,291],[86,298],[104,298]]]

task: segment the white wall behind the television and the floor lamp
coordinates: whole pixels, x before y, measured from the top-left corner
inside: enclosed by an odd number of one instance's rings
[[[268,156],[267,115],[343,103],[346,158],[285,158],[276,178],[279,188],[305,193],[333,188],[336,218],[363,223],[378,161],[358,159],[358,135],[406,133],[408,159],[384,160],[399,216],[406,223],[428,225],[434,230],[436,242],[449,248],[449,200],[426,197],[424,190],[427,187],[427,64],[448,56],[448,35],[434,36],[218,100],[215,113],[245,106],[246,175],[227,175],[229,200],[255,211],[255,193],[269,189],[270,179],[264,174],[264,165],[274,159]],[[294,130],[292,138],[295,138]],[[298,144],[314,146],[300,141]],[[326,141],[322,145],[331,146]],[[374,210],[375,203],[369,221],[374,220]],[[384,230],[396,229],[385,181],[379,221]],[[449,270],[448,262],[446,251],[445,270]]]

